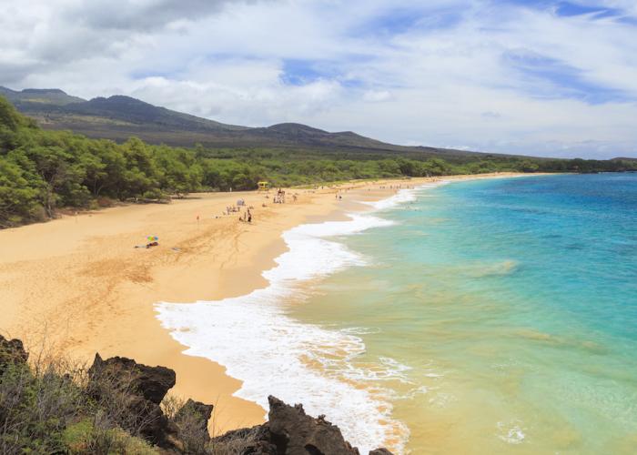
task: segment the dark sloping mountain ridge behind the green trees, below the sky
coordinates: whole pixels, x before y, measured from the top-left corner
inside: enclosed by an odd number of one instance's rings
[[[440,157],[481,155],[444,148],[395,146],[351,131],[330,133],[297,123],[268,127],[227,125],[153,106],[130,96],[97,97],[87,101],[56,88],[17,92],[5,87],[0,87],[0,95],[46,129],[68,129],[118,142],[137,136],[151,144],[180,147],[200,143],[207,147],[302,147],[331,152],[400,152]]]

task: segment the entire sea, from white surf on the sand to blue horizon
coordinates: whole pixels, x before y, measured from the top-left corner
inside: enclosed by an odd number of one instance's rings
[[[268,288],[158,318],[361,453],[635,453],[637,174],[440,182],[350,217],[286,232]]]

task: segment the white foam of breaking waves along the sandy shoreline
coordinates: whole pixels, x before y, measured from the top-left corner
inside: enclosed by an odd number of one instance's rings
[[[376,209],[413,200],[401,190]],[[382,202],[382,201],[381,201]],[[389,390],[369,381],[405,381],[410,368],[382,358],[373,366],[356,366],[365,345],[356,329],[336,330],[289,318],[283,303],[306,298],[299,284],[366,263],[365,258],[329,237],[352,235],[393,223],[369,214],[348,221],[329,221],[289,229],[283,234],[288,252],[263,273],[267,288],[246,296],[194,304],[156,305],[158,319],[187,355],[213,359],[227,374],[241,379],[236,395],[268,409],[268,395],[288,403],[302,402],[310,415],[326,414],[362,453],[388,440],[401,453],[409,430],[391,418]],[[306,287],[307,288],[307,287]]]

